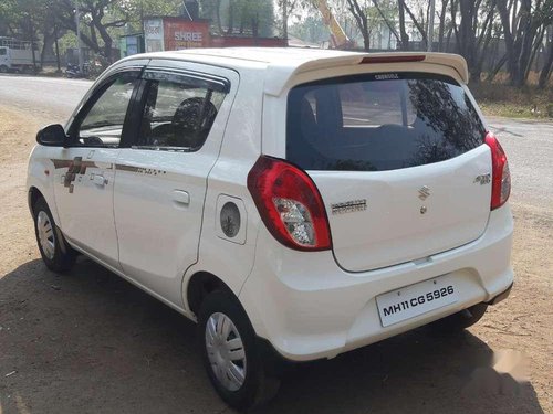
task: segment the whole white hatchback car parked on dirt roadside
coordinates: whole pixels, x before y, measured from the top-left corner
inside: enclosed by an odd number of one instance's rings
[[[38,134],[46,266],[76,253],[198,322],[221,397],[509,295],[505,153],[462,57],[293,49],[143,54]]]

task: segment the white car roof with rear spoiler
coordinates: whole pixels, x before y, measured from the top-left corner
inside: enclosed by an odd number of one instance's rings
[[[424,63],[432,63],[452,67],[463,82],[468,82],[467,62],[462,56],[449,53],[431,52],[385,52],[363,53],[325,49],[302,47],[225,47],[225,49],[188,49],[182,51],[155,52],[132,57],[187,60],[199,63],[227,66],[236,70],[259,67],[265,72],[264,89],[271,95],[279,95],[292,75],[344,65],[356,65],[364,59],[374,60],[395,56],[401,60],[409,56],[422,57]]]

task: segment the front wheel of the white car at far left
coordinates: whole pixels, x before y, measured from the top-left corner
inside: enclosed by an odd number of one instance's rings
[[[76,258],[61,231],[55,225],[46,201],[41,197],[33,205],[34,234],[42,261],[50,270],[63,273],[70,270]]]

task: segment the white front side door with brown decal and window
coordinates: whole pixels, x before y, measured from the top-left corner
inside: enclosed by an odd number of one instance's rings
[[[98,86],[74,118],[69,148],[53,159],[60,226],[74,245],[117,268],[113,215],[115,162],[138,72],[118,74]]]

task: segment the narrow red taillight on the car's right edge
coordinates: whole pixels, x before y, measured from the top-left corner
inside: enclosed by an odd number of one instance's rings
[[[511,173],[505,151],[492,132],[486,135],[486,144],[491,149],[491,210],[503,205],[511,193]]]

